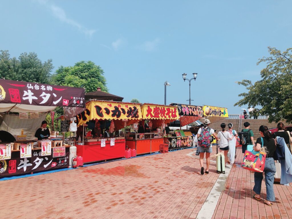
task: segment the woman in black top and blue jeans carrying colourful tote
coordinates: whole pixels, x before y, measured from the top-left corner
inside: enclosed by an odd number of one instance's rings
[[[275,151],[275,141],[272,138],[272,134],[270,133],[267,126],[260,126],[260,135],[262,138],[258,138],[256,141],[256,145],[253,146],[253,150],[260,151],[262,146],[267,148],[267,158],[265,162],[265,183],[267,189],[267,200],[264,201],[266,205],[271,206],[271,201],[276,201],[275,194],[274,194],[274,175],[276,173],[276,166],[274,161],[274,151]],[[262,187],[262,180],[263,180],[263,173],[254,173],[255,177],[255,186],[253,187],[253,191],[256,193],[253,195],[253,198],[257,199],[258,201],[261,200],[260,198],[260,190]]]

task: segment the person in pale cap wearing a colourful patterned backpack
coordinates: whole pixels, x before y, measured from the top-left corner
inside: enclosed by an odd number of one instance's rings
[[[204,127],[199,128],[198,130],[198,147],[200,152],[200,164],[201,164],[201,174],[204,174],[204,154],[206,152],[206,162],[207,162],[207,168],[205,173],[209,173],[209,166],[210,166],[210,154],[212,152],[212,140],[211,135],[215,137],[216,140],[218,140],[217,135],[213,128],[209,128],[209,124],[211,123],[209,119],[204,120]]]

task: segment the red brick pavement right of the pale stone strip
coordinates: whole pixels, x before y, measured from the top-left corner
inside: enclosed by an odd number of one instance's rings
[[[241,148],[237,149],[235,163],[240,163],[243,159]],[[288,219],[292,218],[292,187],[274,184],[276,202],[272,206],[267,206],[262,201],[257,201],[251,196],[254,186],[253,172],[245,170],[239,164],[234,164],[225,190],[222,192],[216,206],[213,218],[219,219]],[[261,198],[266,199],[266,188],[263,180]]]

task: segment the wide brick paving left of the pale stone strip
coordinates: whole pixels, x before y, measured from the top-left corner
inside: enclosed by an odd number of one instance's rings
[[[192,151],[1,181],[1,218],[196,218],[218,174]]]

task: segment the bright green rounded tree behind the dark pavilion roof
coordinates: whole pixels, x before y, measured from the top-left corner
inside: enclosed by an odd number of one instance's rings
[[[96,91],[98,87],[108,92],[104,72],[92,61],[80,61],[73,67],[60,66],[52,76],[55,85],[84,87],[86,92]]]

